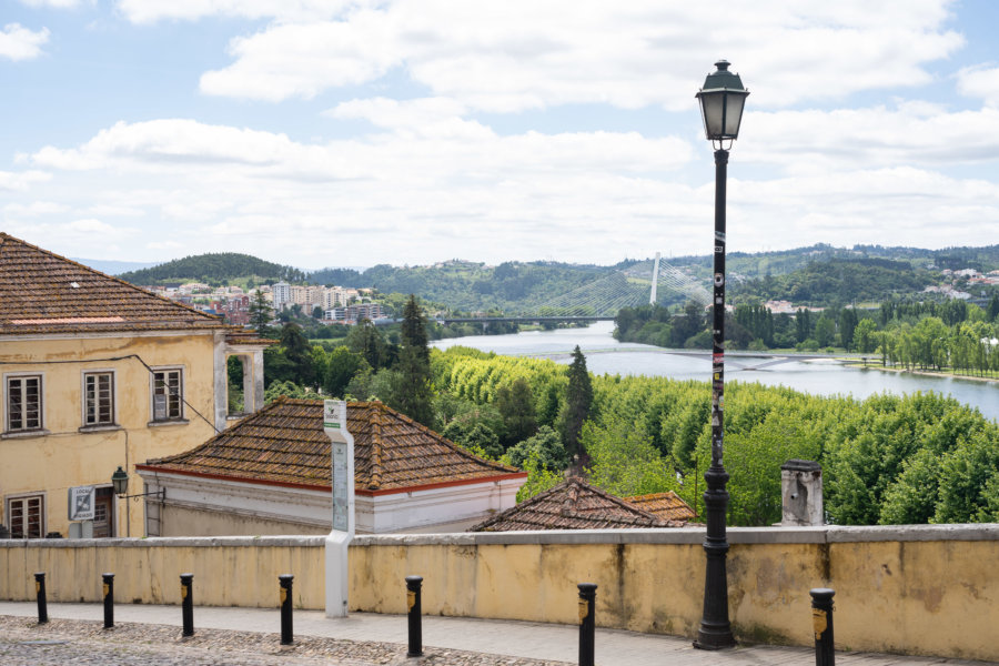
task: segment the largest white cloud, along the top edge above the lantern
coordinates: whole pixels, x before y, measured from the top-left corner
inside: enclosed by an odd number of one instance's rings
[[[199,3],[204,8],[205,3]],[[234,39],[234,62],[205,72],[208,94],[280,101],[377,81],[394,68],[437,97],[512,112],[568,103],[689,108],[718,56],[758,107],[837,99],[926,83],[924,64],[962,38],[942,28],[946,0],[788,3],[744,0],[717,10],[658,0],[396,1],[296,23],[279,8]],[[780,48],[775,48],[779,44]],[[793,54],[790,58],[788,54]]]

